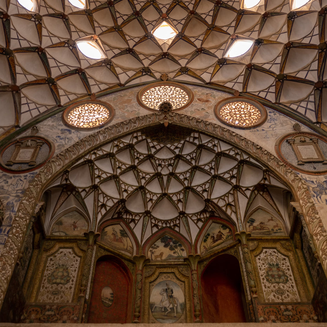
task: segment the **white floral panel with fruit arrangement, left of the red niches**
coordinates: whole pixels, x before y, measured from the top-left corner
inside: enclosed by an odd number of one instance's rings
[[[59,249],[48,257],[38,302],[71,302],[80,258],[72,249]]]

